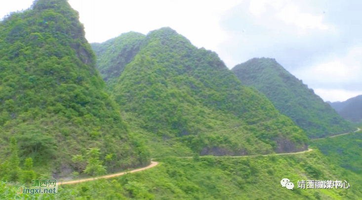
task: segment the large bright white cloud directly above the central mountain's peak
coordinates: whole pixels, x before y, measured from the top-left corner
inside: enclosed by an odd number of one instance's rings
[[[213,51],[226,40],[221,15],[240,0],[69,0],[80,12],[89,42],[103,42],[121,33],[149,31],[169,26],[194,45]]]

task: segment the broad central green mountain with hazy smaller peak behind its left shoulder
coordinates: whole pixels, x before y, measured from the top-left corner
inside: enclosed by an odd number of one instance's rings
[[[306,149],[304,132],[264,95],[243,86],[216,53],[168,27],[141,39],[127,33],[92,46],[103,77],[121,73],[109,92],[131,131],[147,138],[154,158]],[[116,70],[103,70],[110,66]]]

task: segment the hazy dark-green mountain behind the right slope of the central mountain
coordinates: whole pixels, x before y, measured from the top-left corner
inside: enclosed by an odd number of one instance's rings
[[[291,75],[275,59],[253,58],[236,65],[232,71],[242,84],[265,94],[311,139],[354,130],[313,89]]]

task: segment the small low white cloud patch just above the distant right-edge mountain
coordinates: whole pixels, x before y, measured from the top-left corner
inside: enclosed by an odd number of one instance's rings
[[[362,94],[362,90],[360,91],[349,91],[342,89],[322,89],[317,88],[314,89],[314,92],[319,95],[324,101],[346,101],[352,97],[358,96]]]

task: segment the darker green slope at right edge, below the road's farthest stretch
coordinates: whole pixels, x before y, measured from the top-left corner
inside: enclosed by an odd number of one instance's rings
[[[318,147],[331,163],[362,175],[362,130],[314,140],[311,145]]]

